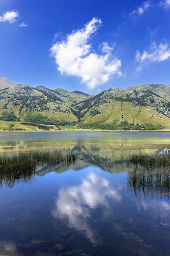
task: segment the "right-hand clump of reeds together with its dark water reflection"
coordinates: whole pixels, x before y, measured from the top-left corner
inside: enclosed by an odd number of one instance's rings
[[[137,196],[170,196],[169,154],[132,154],[130,159],[136,169],[128,174],[127,185]]]

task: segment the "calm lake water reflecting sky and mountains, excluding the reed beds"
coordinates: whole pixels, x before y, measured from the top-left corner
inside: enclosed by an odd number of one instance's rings
[[[164,132],[0,133],[1,154],[70,148],[74,164],[44,164],[0,187],[0,255],[170,255],[169,170],[129,162],[169,154]],[[4,152],[5,151],[5,152]]]

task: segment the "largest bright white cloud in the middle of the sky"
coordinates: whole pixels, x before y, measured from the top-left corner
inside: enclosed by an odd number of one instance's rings
[[[81,82],[91,89],[106,83],[115,74],[122,76],[121,61],[113,56],[112,48],[106,42],[103,43],[103,55],[96,54],[87,44],[101,23],[101,19],[93,18],[83,29],[73,31],[66,40],[57,42],[50,49],[62,74],[80,77]]]

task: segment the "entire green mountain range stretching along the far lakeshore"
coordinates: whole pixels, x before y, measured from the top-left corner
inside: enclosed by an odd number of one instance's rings
[[[1,79],[8,88],[0,90],[0,129],[170,129],[170,88],[165,84],[88,95],[6,80]]]

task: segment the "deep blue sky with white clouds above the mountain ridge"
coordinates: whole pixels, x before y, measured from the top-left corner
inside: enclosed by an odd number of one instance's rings
[[[0,77],[87,93],[170,84],[170,0],[1,0]]]

